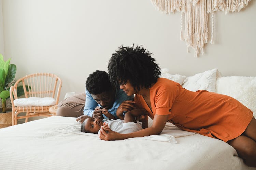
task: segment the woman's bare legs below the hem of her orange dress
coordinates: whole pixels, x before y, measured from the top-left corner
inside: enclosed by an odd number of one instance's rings
[[[234,147],[238,156],[244,163],[251,167],[256,167],[256,120],[253,118],[244,133],[237,138],[229,140],[229,145]]]

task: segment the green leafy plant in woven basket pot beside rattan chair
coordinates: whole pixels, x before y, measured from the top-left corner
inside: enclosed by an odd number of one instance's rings
[[[11,58],[6,62],[0,54],[0,98],[2,99],[2,113],[0,113],[0,128],[12,125],[12,112],[6,113],[6,99],[10,97],[8,84],[12,82],[16,74],[16,65],[10,64]],[[17,95],[24,94],[22,86],[17,88]]]

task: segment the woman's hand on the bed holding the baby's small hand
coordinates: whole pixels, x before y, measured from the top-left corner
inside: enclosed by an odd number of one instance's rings
[[[102,126],[100,127],[100,130],[98,132],[98,136],[101,140],[123,140],[122,135],[123,134],[112,131],[111,129],[106,132],[104,131]]]

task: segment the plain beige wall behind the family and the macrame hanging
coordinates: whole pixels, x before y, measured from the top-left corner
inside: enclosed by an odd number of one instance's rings
[[[61,98],[83,92],[88,75],[106,71],[121,44],[143,45],[173,74],[218,68],[223,75],[256,76],[255,0],[239,13],[215,14],[215,44],[198,58],[180,41],[180,13],[162,14],[150,0],[2,0],[2,10],[5,58],[17,65],[16,77],[57,74]]]

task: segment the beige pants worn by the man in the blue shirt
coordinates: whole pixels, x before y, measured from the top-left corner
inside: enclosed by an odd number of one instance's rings
[[[85,93],[80,93],[59,102],[57,116],[79,117],[84,115],[85,97]]]

